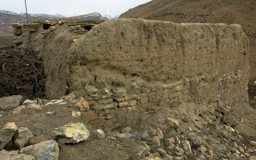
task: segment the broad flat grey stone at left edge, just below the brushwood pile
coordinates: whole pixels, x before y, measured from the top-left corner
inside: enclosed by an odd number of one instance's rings
[[[22,95],[12,95],[9,97],[0,98],[0,111],[5,111],[6,109],[15,109],[20,105],[20,100]]]

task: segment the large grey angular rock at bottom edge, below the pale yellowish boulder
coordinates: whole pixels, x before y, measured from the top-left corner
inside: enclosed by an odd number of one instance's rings
[[[30,154],[36,160],[58,160],[59,147],[55,140],[48,140],[21,148],[20,153]]]

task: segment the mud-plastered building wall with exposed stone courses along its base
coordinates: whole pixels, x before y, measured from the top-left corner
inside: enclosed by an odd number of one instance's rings
[[[240,25],[132,18],[82,34],[74,28],[64,21],[47,35],[43,27],[32,34],[32,47],[44,60],[46,94],[84,97],[105,130],[180,103],[248,103],[249,41]],[[28,47],[27,32],[19,37],[18,47]]]

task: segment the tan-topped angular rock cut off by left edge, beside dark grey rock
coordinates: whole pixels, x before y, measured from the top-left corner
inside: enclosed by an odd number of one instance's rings
[[[8,122],[4,128],[0,130],[0,150],[12,139],[16,131],[18,130],[14,122]]]

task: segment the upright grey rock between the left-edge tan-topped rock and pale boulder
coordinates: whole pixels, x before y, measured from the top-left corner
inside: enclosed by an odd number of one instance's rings
[[[28,140],[33,137],[32,132],[28,130],[26,127],[20,127],[18,128],[15,136],[14,136],[14,146],[20,148],[20,147],[26,147],[28,146]]]

